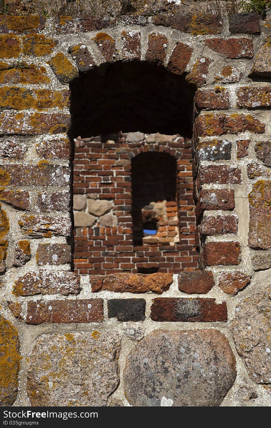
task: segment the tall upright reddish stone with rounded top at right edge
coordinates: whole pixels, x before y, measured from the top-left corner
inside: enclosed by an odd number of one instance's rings
[[[248,245],[250,248],[271,248],[271,181],[259,180],[248,195],[250,222]]]

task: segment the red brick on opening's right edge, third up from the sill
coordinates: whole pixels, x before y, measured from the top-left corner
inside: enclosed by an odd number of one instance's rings
[[[200,218],[203,211],[232,210],[235,208],[234,190],[208,189],[201,190],[196,206],[196,217]]]

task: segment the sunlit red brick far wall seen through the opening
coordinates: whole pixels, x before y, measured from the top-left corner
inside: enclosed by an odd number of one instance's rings
[[[77,139],[73,186],[75,272],[197,269],[190,140],[141,132]],[[143,209],[152,202],[158,214]],[[154,217],[157,234],[143,237],[143,220]]]

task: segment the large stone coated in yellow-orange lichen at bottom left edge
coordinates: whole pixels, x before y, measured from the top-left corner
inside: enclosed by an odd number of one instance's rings
[[[18,386],[21,356],[18,330],[7,320],[0,321],[0,388]]]

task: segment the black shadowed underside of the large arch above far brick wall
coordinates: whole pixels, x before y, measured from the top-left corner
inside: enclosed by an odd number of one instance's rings
[[[71,136],[141,131],[191,138],[195,90],[148,62],[102,64],[70,83]]]

